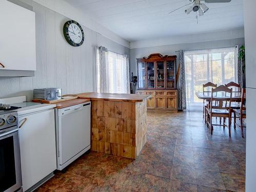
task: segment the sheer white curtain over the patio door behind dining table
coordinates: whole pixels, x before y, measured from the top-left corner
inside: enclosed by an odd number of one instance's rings
[[[196,92],[203,91],[204,83],[210,81],[219,86],[238,81],[237,58],[235,47],[184,52],[188,110],[202,110],[203,103]]]

